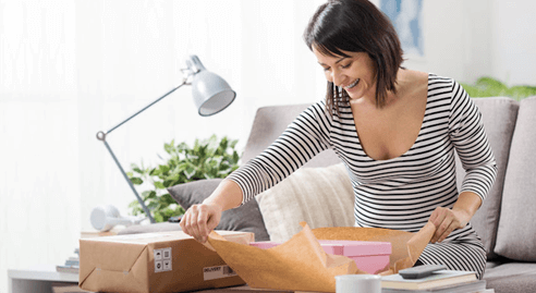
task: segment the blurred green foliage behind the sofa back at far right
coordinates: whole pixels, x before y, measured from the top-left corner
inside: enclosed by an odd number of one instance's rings
[[[536,96],[536,86],[517,85],[508,87],[503,83],[491,78],[480,77],[475,84],[462,84],[465,91],[471,97],[510,97],[515,100],[521,100],[526,97]]]

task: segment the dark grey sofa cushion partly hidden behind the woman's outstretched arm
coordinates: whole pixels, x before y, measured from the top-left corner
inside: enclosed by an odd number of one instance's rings
[[[200,204],[218,187],[222,179],[198,180],[169,187],[169,194],[184,209]],[[242,231],[255,233],[255,241],[268,241],[263,216],[257,202],[252,199],[245,205],[221,213],[220,223],[216,230]]]

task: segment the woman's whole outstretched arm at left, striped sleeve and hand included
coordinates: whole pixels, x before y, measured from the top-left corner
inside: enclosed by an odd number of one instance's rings
[[[203,204],[192,206],[181,221],[182,230],[206,242],[222,211],[272,187],[329,148],[330,121],[324,107],[318,102],[303,111],[265,151],[231,173]]]

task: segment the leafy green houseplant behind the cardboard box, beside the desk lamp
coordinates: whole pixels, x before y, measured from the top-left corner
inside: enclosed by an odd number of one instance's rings
[[[240,156],[235,150],[237,141],[228,137],[218,139],[212,135],[208,139],[195,139],[194,146],[185,143],[165,144],[168,158],[157,167],[144,167],[143,162],[131,166],[127,172],[134,185],[147,186],[141,193],[142,199],[151,211],[157,222],[168,221],[169,218],[181,216],[184,209],[167,192],[167,187],[202,179],[226,178],[239,168]],[[137,200],[129,205],[131,213],[143,215]]]

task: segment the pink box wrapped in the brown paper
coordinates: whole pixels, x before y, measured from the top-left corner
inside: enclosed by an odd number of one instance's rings
[[[352,258],[360,270],[376,274],[389,266],[391,243],[370,241],[320,240],[320,246],[327,254],[343,255]],[[252,242],[249,245],[268,249],[280,242]]]

